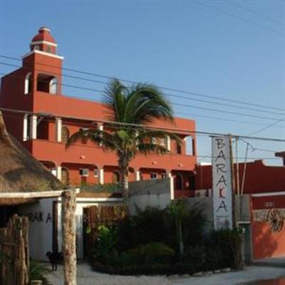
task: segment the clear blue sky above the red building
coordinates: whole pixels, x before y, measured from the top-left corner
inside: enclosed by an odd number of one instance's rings
[[[276,120],[285,118],[285,1],[282,0],[2,0],[0,24],[0,53],[4,55],[22,56],[38,27],[45,25],[51,28],[58,42],[58,53],[65,57],[66,68],[284,109],[268,110],[279,115],[267,113],[265,108],[258,108],[264,112],[242,110],[217,104],[237,105],[234,103],[165,91],[189,98],[170,100],[184,105],[174,105],[175,112],[197,120],[197,130],[248,135],[275,121],[190,106]],[[0,64],[0,70],[8,73],[12,68]],[[64,83],[104,88],[102,84],[68,78]],[[98,92],[65,88],[64,93],[100,99]],[[285,121],[256,135],[285,138]],[[209,138],[198,137],[199,155],[210,153],[209,142]],[[285,149],[284,143],[251,142],[254,147],[266,150]],[[240,142],[241,156],[244,148],[245,144]],[[255,150],[250,156],[274,157],[274,153]]]

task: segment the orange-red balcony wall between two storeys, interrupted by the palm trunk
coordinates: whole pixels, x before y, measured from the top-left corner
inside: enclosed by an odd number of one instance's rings
[[[104,152],[97,145],[73,145],[66,149],[61,142],[48,140],[28,140],[24,145],[38,160],[88,164],[118,165],[115,152]],[[192,155],[137,155],[130,167],[163,169],[163,170],[194,170],[196,157]]]

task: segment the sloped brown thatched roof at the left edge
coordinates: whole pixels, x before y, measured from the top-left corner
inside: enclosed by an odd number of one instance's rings
[[[28,198],[26,194],[62,189],[62,183],[7,133],[0,111],[0,205],[33,202],[35,197]],[[3,198],[5,195],[9,197]]]

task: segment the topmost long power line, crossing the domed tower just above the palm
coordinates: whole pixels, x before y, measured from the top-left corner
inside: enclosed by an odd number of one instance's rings
[[[21,61],[20,58],[15,58],[12,56],[5,56],[5,55],[1,55],[1,58],[7,58],[7,59],[11,59],[11,60],[15,60],[15,61]],[[118,78],[118,80],[123,81],[123,82],[127,82],[127,83],[133,83],[133,84],[138,84],[140,82],[138,81],[130,81],[128,79],[124,79],[124,78],[120,78],[120,77],[115,77],[115,76],[105,76],[105,75],[101,75],[98,73],[90,73],[90,72],[86,72],[86,71],[80,71],[80,70],[76,70],[76,69],[72,69],[72,68],[62,68],[62,67],[58,67],[58,66],[53,66],[51,64],[46,64],[46,63],[37,63],[38,65],[41,66],[48,66],[48,67],[52,67],[52,68],[57,68],[57,69],[62,69],[65,71],[71,71],[71,72],[75,72],[75,73],[81,73],[81,74],[86,74],[88,76],[95,76],[95,77],[100,77],[100,78],[106,78],[106,79],[113,79],[113,78]],[[100,82],[102,83],[102,82]],[[212,98],[215,100],[222,100],[222,101],[226,101],[226,102],[230,102],[230,103],[238,103],[238,104],[242,104],[242,105],[251,105],[251,106],[255,106],[255,107],[260,107],[260,108],[264,108],[264,109],[271,109],[271,110],[281,110],[281,111],[285,111],[284,108],[277,108],[277,107],[271,107],[268,105],[261,105],[261,104],[256,104],[256,103],[248,103],[248,102],[244,102],[244,101],[240,101],[240,100],[232,100],[232,99],[228,99],[228,98],[222,98],[222,97],[218,97],[218,96],[214,96],[214,95],[207,95],[207,94],[203,94],[203,93],[195,93],[195,92],[190,92],[187,90],[180,90],[177,88],[170,88],[170,87],[166,87],[166,86],[157,86],[158,88],[164,89],[164,90],[170,90],[173,92],[177,92],[177,93],[185,93],[188,95],[193,95],[193,96],[197,96],[197,97],[204,97],[204,98]]]

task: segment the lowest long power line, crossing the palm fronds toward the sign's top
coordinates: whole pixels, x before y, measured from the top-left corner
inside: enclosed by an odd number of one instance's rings
[[[0,108],[2,111],[11,112],[11,113],[22,113],[22,114],[34,114],[31,111],[26,110],[16,110],[16,109],[10,109],[10,108]],[[145,128],[147,130],[167,130],[172,131],[173,133],[181,133],[181,134],[199,134],[199,135],[209,135],[209,136],[231,136],[232,138],[244,138],[249,140],[264,140],[264,141],[274,141],[274,142],[285,142],[285,139],[281,138],[262,138],[262,137],[249,137],[247,135],[235,135],[235,134],[225,134],[225,133],[214,133],[214,132],[205,132],[205,131],[198,131],[198,130],[187,130],[187,129],[179,129],[179,128],[165,128],[165,127],[153,127],[151,125],[140,125],[140,124],[133,124],[133,123],[120,123],[115,122],[113,120],[103,120],[100,118],[83,118],[83,117],[74,117],[74,116],[65,116],[65,115],[59,115],[59,114],[47,114],[47,113],[36,113],[37,115],[46,116],[46,117],[61,117],[61,118],[68,118],[68,119],[77,119],[77,120],[89,120],[93,122],[100,122],[100,123],[106,123],[108,126],[110,125],[119,125],[119,126],[128,126],[133,128],[134,130],[141,130],[141,128]]]

